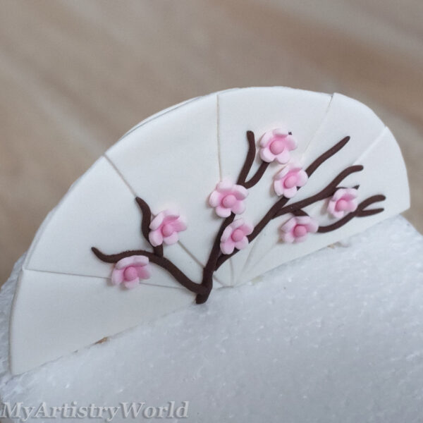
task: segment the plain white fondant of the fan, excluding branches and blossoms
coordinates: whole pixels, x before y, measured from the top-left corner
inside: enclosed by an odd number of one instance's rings
[[[387,195],[386,211],[353,219],[339,231],[311,235],[298,245],[278,243],[278,226],[286,218],[275,219],[255,242],[216,271],[214,288],[250,281],[408,207],[407,176],[396,141],[367,106],[353,99],[272,87],[228,90],[173,106],[123,136],[72,186],[39,229],[23,266],[13,312],[13,372],[25,372],[192,302],[193,295],[157,266],[136,293],[109,286],[112,266],[97,259],[90,249],[99,247],[106,254],[150,250],[140,231],[138,195],[153,214],[171,207],[188,220],[188,230],[180,233],[179,243],[166,246],[164,252],[200,283],[222,221],[207,205],[209,194],[221,176],[234,181],[238,177],[247,153],[246,130],[254,130],[258,142],[262,133],[278,126],[293,132],[298,140],[293,157],[305,165],[345,135],[351,136],[348,145],[316,171],[294,201],[321,190],[338,171],[360,162],[365,170],[345,183],[360,183],[360,199]],[[257,166],[258,161],[250,176]],[[254,224],[276,201],[271,182],[279,168],[271,164],[245,200],[243,217]],[[306,211],[319,214],[317,207],[321,204]],[[110,310],[117,305],[121,311],[111,317]],[[66,336],[61,336],[62,321],[66,321]],[[42,333],[38,341],[37,332]],[[33,339],[31,351],[27,339]],[[53,345],[47,347],[51,339]]]

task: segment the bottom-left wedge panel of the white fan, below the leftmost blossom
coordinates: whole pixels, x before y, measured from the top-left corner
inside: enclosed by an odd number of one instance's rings
[[[168,277],[162,269],[157,272]],[[127,290],[110,286],[104,278],[87,281],[84,276],[25,270],[20,274],[13,309],[12,369],[26,372],[157,315],[188,306],[194,298],[188,290],[178,288],[142,284]],[[52,317],[56,324],[51,322]]]

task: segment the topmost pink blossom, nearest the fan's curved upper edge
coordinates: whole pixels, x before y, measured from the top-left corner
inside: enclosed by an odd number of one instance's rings
[[[260,157],[263,161],[277,160],[280,164],[288,163],[290,151],[297,148],[295,138],[282,128],[268,130],[260,140]]]

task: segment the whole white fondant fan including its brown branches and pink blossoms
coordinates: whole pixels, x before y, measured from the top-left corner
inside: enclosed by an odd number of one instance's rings
[[[204,302],[212,286],[407,207],[393,135],[341,94],[247,88],[166,109],[111,147],[39,229],[13,304],[11,370]]]

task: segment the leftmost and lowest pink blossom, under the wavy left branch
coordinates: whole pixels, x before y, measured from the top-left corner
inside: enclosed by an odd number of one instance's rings
[[[125,288],[135,288],[141,279],[150,277],[149,259],[145,256],[131,256],[119,260],[111,274],[111,283]]]

